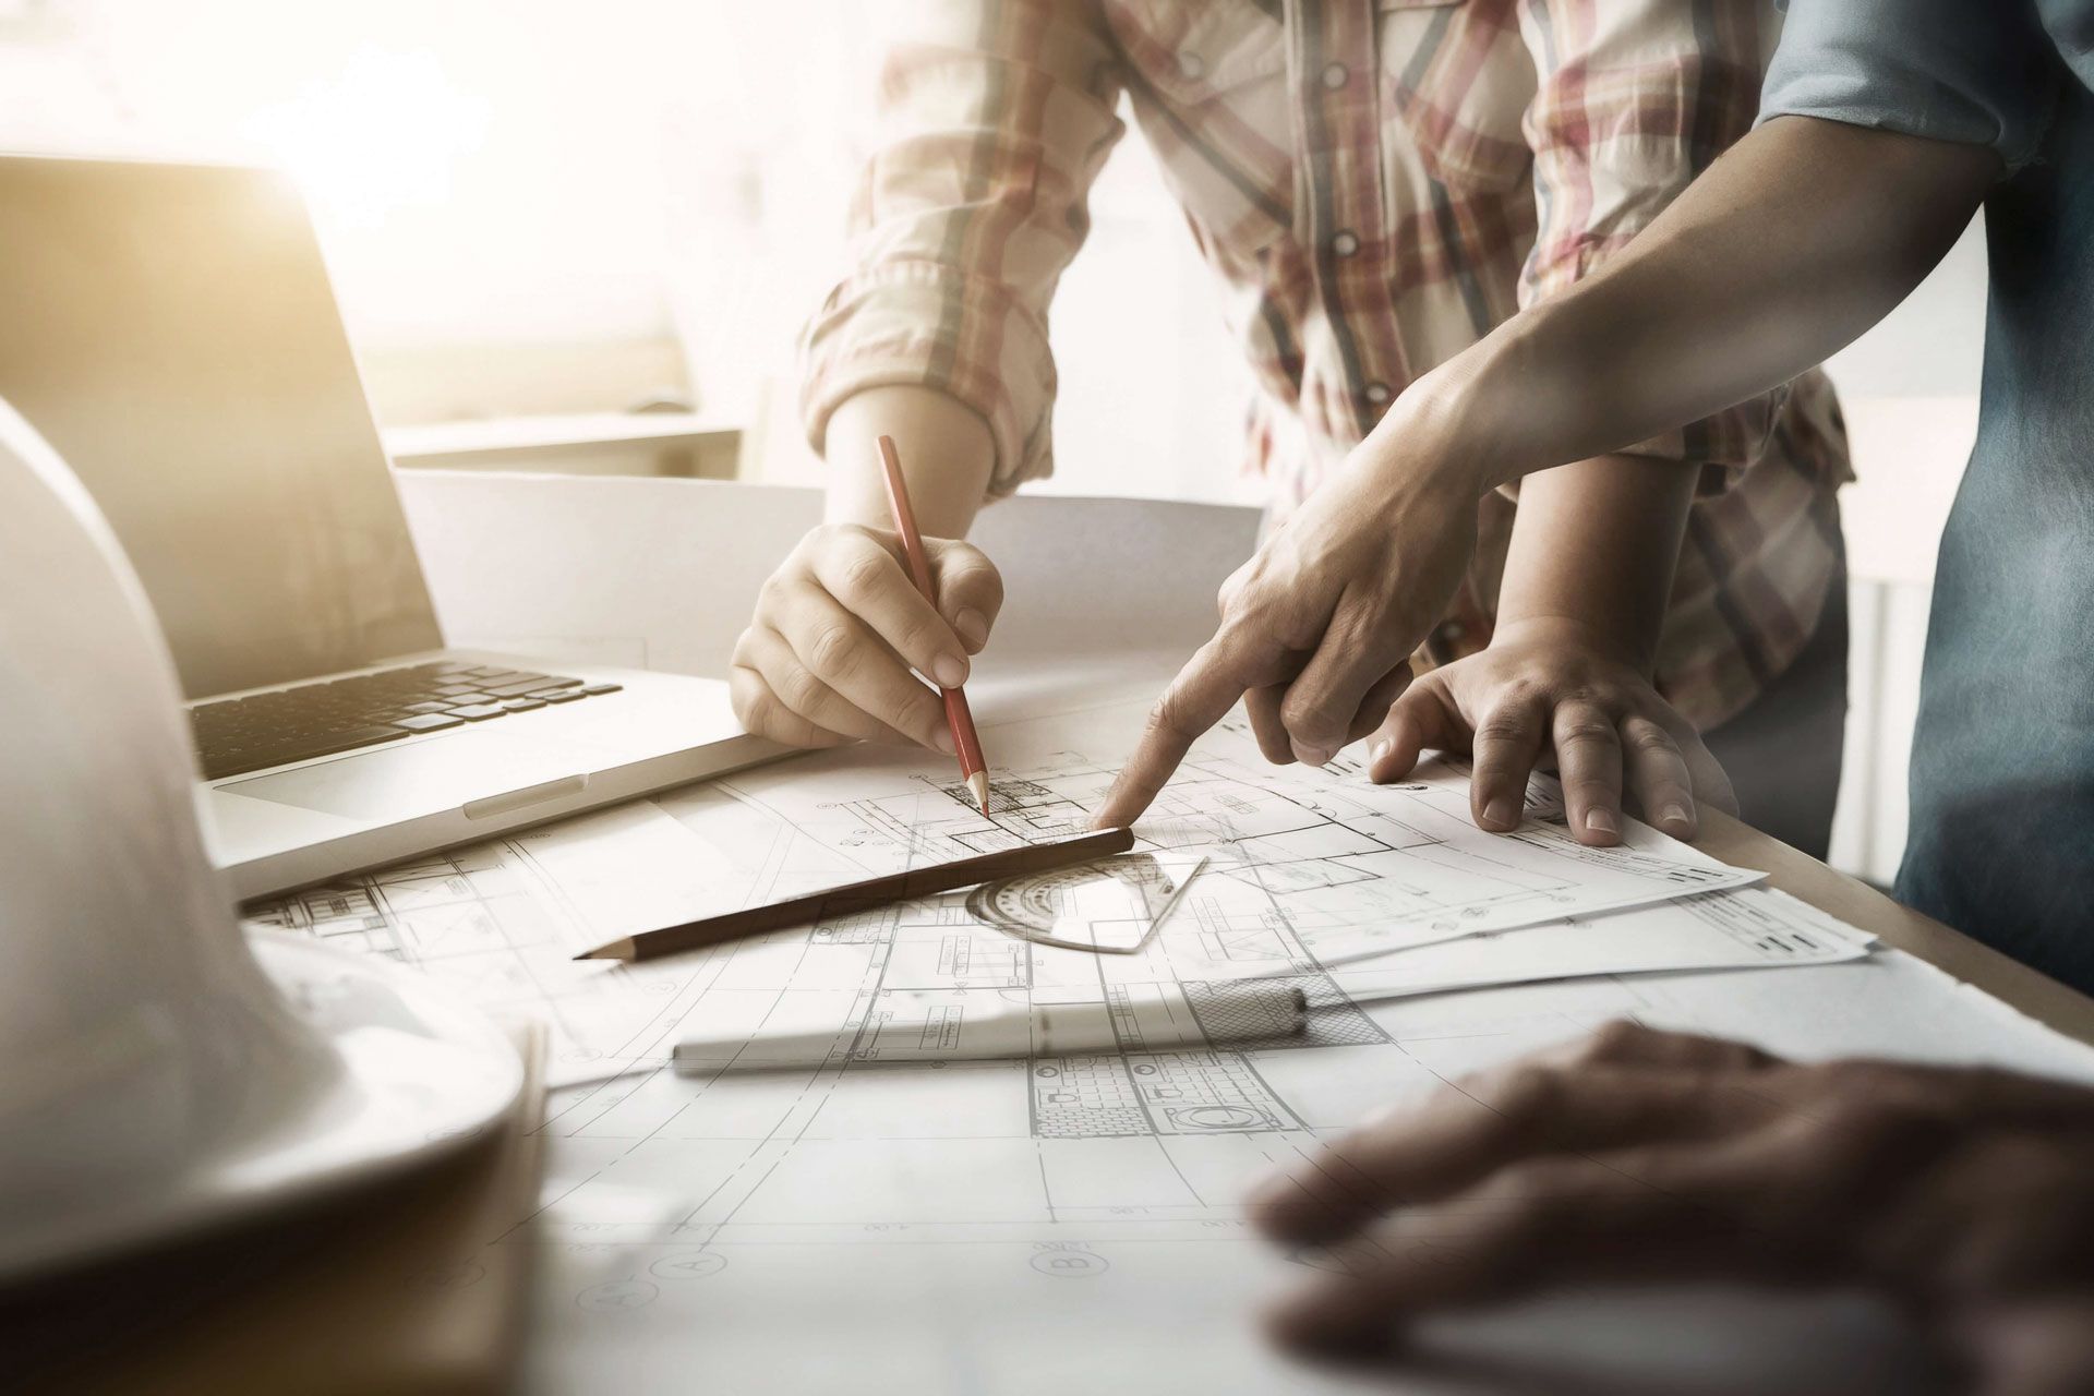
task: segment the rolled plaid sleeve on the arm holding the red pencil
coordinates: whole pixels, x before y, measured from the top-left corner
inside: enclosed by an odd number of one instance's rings
[[[821,450],[856,391],[934,387],[988,423],[990,494],[1051,473],[1047,303],[1122,132],[1089,0],[913,0],[888,50],[850,274],[802,337]]]

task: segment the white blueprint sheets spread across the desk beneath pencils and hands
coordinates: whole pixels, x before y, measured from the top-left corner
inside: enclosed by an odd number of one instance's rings
[[[1101,1373],[1168,1392],[1315,1390],[1248,1321],[1317,1262],[1250,1235],[1240,1197],[1265,1172],[1369,1109],[1610,1017],[1751,1032],[1790,1015],[1836,1034],[1914,1021],[1952,990],[1656,833],[1575,846],[1545,781],[1520,833],[1480,835],[1457,770],[1384,789],[1349,762],[1275,770],[1235,728],[1202,743],[1137,829],[1135,856],[1183,885],[1133,952],[1043,944],[1043,921],[1089,904],[1045,875],[658,963],[570,959],[1068,833],[1137,722],[1112,710],[984,730],[986,820],[940,758],[823,753],[251,917],[553,1021],[565,1084],[544,1201],[496,1243],[538,1247],[528,1386],[630,1396],[1066,1392]],[[1633,973],[1717,967],[1740,973]],[[1244,982],[1298,988],[1307,1030],[1223,1021]],[[1719,982],[1736,990],[1688,992]],[[1725,1017],[1763,982],[1801,992]],[[1857,986],[1906,1011],[1843,1015]],[[970,1057],[970,1015],[1022,1003],[1108,1005],[1120,1049]],[[827,1032],[833,1046],[819,1067],[674,1069],[697,1030]],[[894,1042],[913,1059],[882,1059]]]

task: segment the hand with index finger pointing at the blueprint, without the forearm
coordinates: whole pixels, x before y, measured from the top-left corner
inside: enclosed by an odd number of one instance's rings
[[[1372,733],[1462,582],[1476,496],[1466,481],[1390,469],[1372,437],[1355,450],[1221,588],[1215,638],[1150,710],[1097,825],[1131,825],[1246,695],[1271,762],[1321,766]]]

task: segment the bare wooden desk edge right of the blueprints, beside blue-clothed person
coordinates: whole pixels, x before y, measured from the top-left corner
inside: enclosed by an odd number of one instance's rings
[[[1878,936],[1887,946],[1929,961],[2046,1028],[2094,1042],[2094,998],[1893,902],[1845,873],[1834,873],[1809,854],[1715,812],[1705,812],[1702,835],[1694,846],[1711,858],[1763,871],[1782,892]]]

